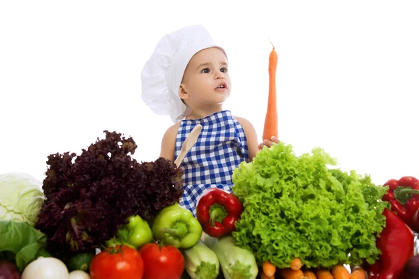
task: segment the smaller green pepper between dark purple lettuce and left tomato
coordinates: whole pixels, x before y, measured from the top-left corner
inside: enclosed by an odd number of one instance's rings
[[[138,215],[128,218],[128,224],[122,225],[117,231],[117,235],[108,241],[107,246],[125,244],[135,249],[140,248],[145,243],[153,241],[153,233],[147,221],[142,220]]]

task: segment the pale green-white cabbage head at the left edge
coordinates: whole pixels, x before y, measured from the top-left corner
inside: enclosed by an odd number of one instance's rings
[[[44,200],[41,181],[20,172],[0,174],[0,193],[0,220],[34,225]]]

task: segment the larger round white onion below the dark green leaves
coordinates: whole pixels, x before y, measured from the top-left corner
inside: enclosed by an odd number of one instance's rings
[[[38,257],[23,271],[21,279],[69,279],[64,262],[54,257]]]

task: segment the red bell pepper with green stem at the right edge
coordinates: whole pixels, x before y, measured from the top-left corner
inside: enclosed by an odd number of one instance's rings
[[[391,204],[391,210],[414,232],[419,232],[419,180],[404,176],[399,180],[390,179],[383,186],[389,187],[383,200]]]

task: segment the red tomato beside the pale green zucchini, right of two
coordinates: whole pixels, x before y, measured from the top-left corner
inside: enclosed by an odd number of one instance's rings
[[[140,254],[145,266],[144,279],[179,279],[182,276],[184,257],[174,246],[147,243],[140,248]]]

